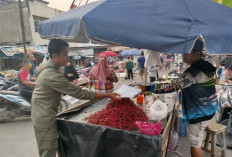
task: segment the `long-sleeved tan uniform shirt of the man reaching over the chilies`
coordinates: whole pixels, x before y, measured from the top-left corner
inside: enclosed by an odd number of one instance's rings
[[[44,67],[48,68],[44,69]],[[80,87],[69,83],[51,60],[43,63],[37,73],[39,75],[31,100],[31,119],[37,127],[51,128],[56,126],[56,115],[61,94],[67,94],[78,99],[92,100],[95,98],[94,92],[82,90]]]

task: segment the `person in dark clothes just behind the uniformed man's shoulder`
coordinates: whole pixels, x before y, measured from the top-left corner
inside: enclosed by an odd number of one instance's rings
[[[66,67],[64,68],[64,76],[69,82],[73,82],[74,84],[76,84],[77,80],[79,79],[79,75],[77,74],[77,71],[73,67],[71,61],[66,63]]]

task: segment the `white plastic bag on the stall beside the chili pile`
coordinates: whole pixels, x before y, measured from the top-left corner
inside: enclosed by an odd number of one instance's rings
[[[160,121],[167,117],[167,104],[156,100],[150,107],[149,119]]]

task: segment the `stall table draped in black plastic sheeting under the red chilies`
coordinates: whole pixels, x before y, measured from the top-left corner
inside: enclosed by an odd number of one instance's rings
[[[150,101],[151,99],[146,105],[151,105]],[[137,104],[136,99],[134,101],[132,99],[131,102],[134,102],[136,107],[149,117],[149,114],[146,113],[146,106]],[[119,129],[115,126],[89,123],[88,118],[91,115],[101,112],[109,104],[109,99],[87,101],[58,115],[61,157],[83,155],[91,157],[165,156],[170,130],[176,120],[179,103],[167,105],[167,116],[161,120],[162,131],[157,135],[141,134],[141,130],[139,131],[138,128],[125,130],[125,128]],[[153,120],[149,120],[149,122],[157,123]]]

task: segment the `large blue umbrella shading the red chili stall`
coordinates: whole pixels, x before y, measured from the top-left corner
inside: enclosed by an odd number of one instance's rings
[[[232,53],[231,17],[211,0],[104,0],[42,22],[40,35],[183,54],[202,36],[208,52],[223,54]]]

